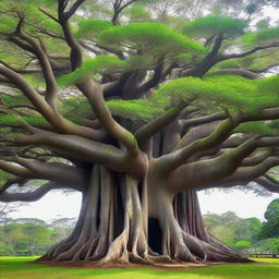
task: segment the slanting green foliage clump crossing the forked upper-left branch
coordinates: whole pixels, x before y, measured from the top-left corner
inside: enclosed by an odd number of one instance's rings
[[[118,72],[128,68],[125,61],[120,60],[114,56],[97,56],[96,58],[86,60],[82,68],[74,72],[63,75],[58,80],[60,86],[72,85],[82,81],[88,80],[93,74]]]

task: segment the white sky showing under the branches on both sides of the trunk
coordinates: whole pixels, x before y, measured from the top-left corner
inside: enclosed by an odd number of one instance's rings
[[[78,215],[81,198],[80,193],[63,194],[61,191],[53,191],[38,202],[22,206],[19,211],[10,214],[10,217],[39,218],[45,221],[64,217],[74,218]],[[229,193],[215,190],[209,194],[204,191],[198,192],[198,198],[203,214],[222,214],[231,210],[242,218],[257,217],[263,220],[267,205],[272,199],[279,198],[279,194],[274,194],[271,197],[259,197],[239,190]]]

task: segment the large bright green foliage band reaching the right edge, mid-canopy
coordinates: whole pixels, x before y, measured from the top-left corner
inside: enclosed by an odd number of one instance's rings
[[[276,88],[278,77],[259,81],[240,76],[213,76],[207,78],[183,77],[159,87],[154,98],[161,104],[172,100],[203,100],[207,105],[255,112],[279,104]],[[263,88],[265,95],[263,95]]]

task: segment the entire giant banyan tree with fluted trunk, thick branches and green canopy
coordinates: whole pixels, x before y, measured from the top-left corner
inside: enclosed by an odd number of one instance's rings
[[[199,2],[1,1],[0,201],[83,195],[41,259],[246,260],[197,191],[279,192],[279,27],[264,1]]]

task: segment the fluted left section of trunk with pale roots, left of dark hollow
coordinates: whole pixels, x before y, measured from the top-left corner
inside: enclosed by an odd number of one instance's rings
[[[94,166],[72,234],[40,259],[145,263],[146,185],[138,184],[129,174]]]

